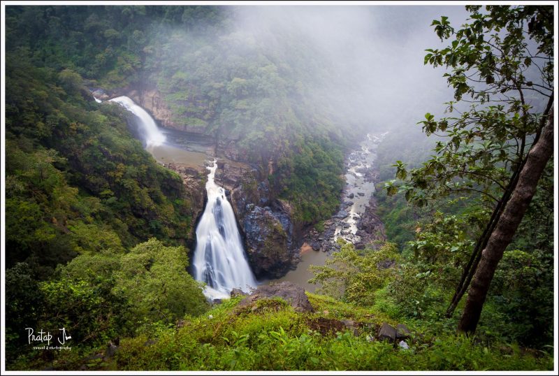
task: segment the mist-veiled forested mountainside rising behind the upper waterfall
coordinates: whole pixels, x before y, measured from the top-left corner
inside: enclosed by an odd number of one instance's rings
[[[6,34],[10,50],[29,49],[69,86],[78,73],[90,87],[157,89],[177,128],[232,142],[262,180],[277,165],[271,193],[298,221],[327,219],[342,189],[342,129],[365,125],[330,94],[347,82],[300,35],[239,31],[235,17],[205,6],[13,6]]]

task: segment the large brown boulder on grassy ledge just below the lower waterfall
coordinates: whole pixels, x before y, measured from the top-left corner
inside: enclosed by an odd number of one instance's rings
[[[287,281],[259,286],[250,296],[242,299],[238,307],[247,307],[261,298],[283,298],[297,312],[314,312],[305,289]]]

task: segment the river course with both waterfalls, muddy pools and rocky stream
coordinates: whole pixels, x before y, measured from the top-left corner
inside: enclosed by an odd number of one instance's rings
[[[157,97],[155,98],[157,99]],[[101,103],[101,100],[95,95],[94,99],[97,103]],[[293,225],[289,214],[278,218],[269,206],[257,207],[254,210],[254,203],[251,203],[247,197],[250,196],[251,191],[243,189],[242,182],[247,182],[246,178],[256,179],[256,176],[247,175],[246,167],[238,162],[235,164],[235,161],[228,159],[223,159],[219,163],[217,159],[209,161],[209,158],[215,155],[217,145],[212,148],[208,147],[209,143],[205,143],[204,146],[204,142],[200,141],[201,136],[195,137],[197,141],[195,140],[193,143],[188,139],[193,135],[183,131],[173,130],[170,138],[167,138],[166,133],[169,130],[157,126],[152,115],[128,96],[117,96],[108,101],[119,103],[133,114],[133,118],[129,119],[131,129],[137,128],[134,133],[160,164],[175,171],[181,171],[180,166],[184,165],[201,166],[203,164],[208,169],[205,182],[205,208],[199,209],[201,217],[196,226],[196,249],[192,253],[192,274],[196,280],[205,282],[204,294],[210,301],[228,297],[233,288],[249,292],[259,284],[256,282],[252,270],[263,270],[266,262],[253,256],[252,266],[249,266],[239,229],[244,230],[245,242],[253,254],[266,253],[270,248],[279,250],[275,255],[268,257],[268,262],[277,263],[282,260],[281,254],[291,253],[291,257],[283,261],[288,268],[277,270],[275,274],[269,273],[269,270],[268,273],[260,273],[261,282],[268,282],[270,277],[275,276],[278,281],[296,282],[309,291],[314,291],[316,287],[307,282],[312,277],[312,273],[307,268],[310,265],[323,265],[332,250],[339,250],[337,238],[342,237],[345,241],[360,243],[361,237],[363,237],[363,244],[372,239],[383,239],[382,223],[375,216],[374,202],[369,201],[372,200],[372,194],[375,191],[375,150],[386,133],[378,136],[367,134],[365,140],[356,145],[356,150],[348,154],[345,174],[347,186],[343,191],[340,211],[325,221],[326,229],[321,233],[314,229],[310,233],[303,231],[298,235],[300,238],[293,238]],[[152,99],[151,103],[160,103],[160,101]],[[153,108],[151,109],[153,110]],[[161,113],[161,108],[159,108],[159,113]],[[167,111],[164,110],[163,113],[167,113]],[[161,120],[158,122],[165,124]],[[171,146],[170,143],[179,146]],[[193,148],[201,152],[187,150]],[[163,153],[163,150],[166,152]],[[167,158],[162,157],[163,154]],[[218,168],[219,173],[217,174]],[[232,173],[235,170],[238,172]],[[182,171],[184,173],[187,170]],[[200,171],[200,168],[191,169],[191,178],[195,178],[194,175],[196,175],[196,178],[199,179]],[[216,174],[222,183],[228,185],[230,190],[226,192],[223,187],[216,184]],[[238,180],[242,179],[240,175],[244,175],[242,178],[245,180]],[[252,182],[250,183],[252,184]],[[263,183],[259,183],[257,192],[261,192],[261,189],[266,187]],[[188,189],[186,183],[185,187]],[[229,200],[232,201],[233,206]],[[266,200],[266,196],[262,196],[260,193],[259,203],[266,204]],[[245,208],[250,207],[253,207],[252,213],[256,212],[257,216],[247,215]],[[284,212],[289,213],[289,209]],[[371,218],[375,221],[375,227],[372,229],[365,227],[365,223],[371,221]],[[283,229],[289,229],[288,241],[282,240],[281,237],[279,239],[277,237],[268,238],[264,245],[265,248],[259,249],[263,244],[259,243],[258,239],[263,238],[263,235],[266,236],[263,219],[277,221]],[[271,227],[277,228],[274,224]],[[380,234],[378,231],[381,231]],[[284,231],[280,231],[280,233],[284,233]],[[288,242],[291,243],[291,250]],[[296,245],[299,245],[300,249],[296,248]],[[326,253],[319,252],[320,250]]]

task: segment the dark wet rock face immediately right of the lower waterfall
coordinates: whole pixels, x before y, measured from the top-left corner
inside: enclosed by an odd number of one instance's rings
[[[258,171],[248,164],[218,161],[215,178],[230,192],[256,277],[281,277],[287,273],[296,256],[289,204],[270,198],[268,181],[259,181]]]

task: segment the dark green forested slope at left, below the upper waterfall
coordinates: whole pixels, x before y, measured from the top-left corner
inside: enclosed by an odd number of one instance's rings
[[[81,252],[184,242],[180,177],[131,138],[120,108],[92,103],[65,73],[35,68],[25,50],[6,59],[8,267],[26,261],[45,278]]]

